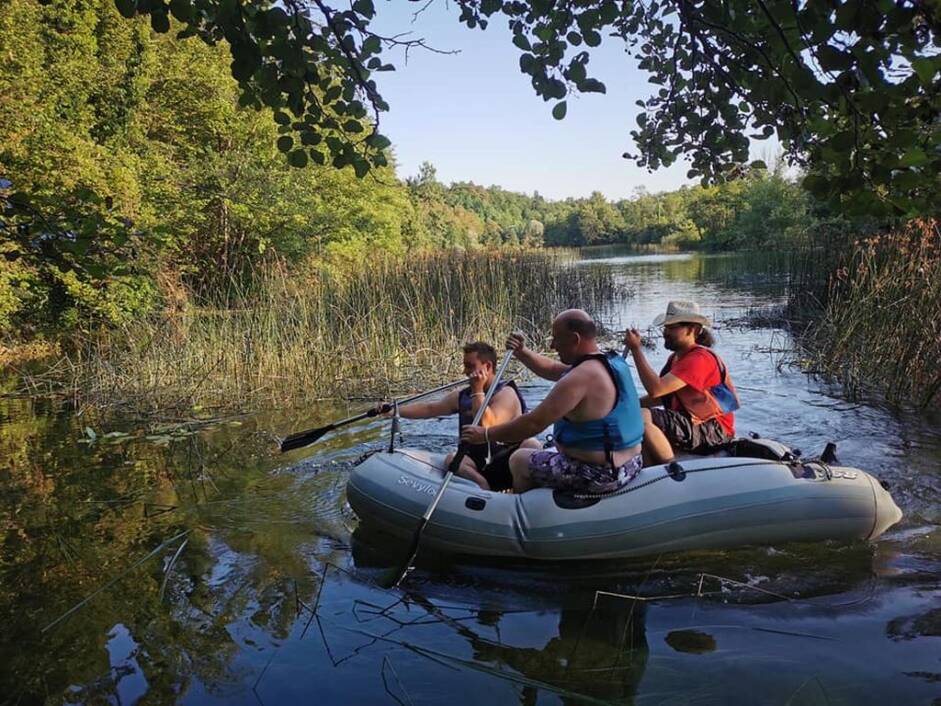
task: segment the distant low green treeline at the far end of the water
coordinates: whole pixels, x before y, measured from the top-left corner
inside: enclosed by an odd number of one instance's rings
[[[814,222],[812,200],[780,171],[753,169],[718,186],[684,186],[608,201],[603,194],[549,201],[534,193],[439,184],[425,164],[409,180],[426,203],[466,213],[466,240],[484,245],[667,245],[704,250],[793,245]]]

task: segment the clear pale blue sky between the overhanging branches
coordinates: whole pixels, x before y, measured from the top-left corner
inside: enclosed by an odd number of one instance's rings
[[[619,199],[640,186],[656,192],[691,183],[686,164],[649,173],[621,157],[636,151],[635,101],[653,87],[621,42],[608,38],[592,50],[589,75],[605,83],[607,94],[570,96],[568,115],[557,121],[554,102],[537,96],[520,72],[520,51],[504,19],[495,16],[485,31],[469,30],[453,3],[435,0],[413,24],[423,4],[376,3],[377,32],[411,32],[437,49],[460,50],[442,56],[414,49],[407,64],[399,52],[390,55],[395,72],[374,74],[391,106],[381,129],[392,140],[400,177],[429,161],[445,183],[497,184],[549,198],[600,191]],[[753,145],[756,158],[766,156],[769,144]]]

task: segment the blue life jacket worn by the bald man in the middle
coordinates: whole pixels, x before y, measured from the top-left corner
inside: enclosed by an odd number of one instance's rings
[[[562,417],[552,430],[556,441],[573,449],[609,453],[636,446],[644,438],[644,418],[627,361],[616,351],[593,353],[575,363],[569,372],[586,360],[599,360],[607,369],[614,382],[614,407],[601,419],[587,422],[573,422]]]

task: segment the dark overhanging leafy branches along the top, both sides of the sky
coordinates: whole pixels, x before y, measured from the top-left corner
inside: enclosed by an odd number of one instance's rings
[[[385,163],[388,105],[375,72],[403,44],[371,29],[373,0],[115,0],[157,31],[231,47],[246,105],[269,106],[294,164],[308,157],[364,174]],[[777,135],[807,187],[850,210],[931,211],[941,195],[941,11],[924,0],[457,0],[460,21],[507,22],[520,70],[565,117],[572,92],[604,93],[591,50],[624,42],[649,74],[638,147],[657,169],[683,157],[705,183],[734,177],[749,138]],[[406,42],[423,45],[422,40]]]

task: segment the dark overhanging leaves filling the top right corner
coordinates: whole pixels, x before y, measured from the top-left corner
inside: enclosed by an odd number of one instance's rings
[[[849,212],[936,208],[939,15],[925,2],[725,0],[636,5],[618,27],[659,85],[637,161],[691,159],[714,181],[776,134],[807,188]]]

